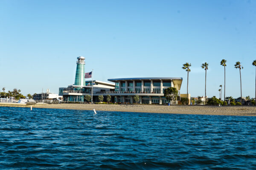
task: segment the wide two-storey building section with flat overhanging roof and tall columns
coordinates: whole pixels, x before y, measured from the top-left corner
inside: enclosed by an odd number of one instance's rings
[[[120,78],[108,79],[115,83],[114,91],[106,91],[115,97],[115,102],[134,103],[134,96],[140,96],[141,104],[165,104],[168,101],[164,97],[164,89],[174,87],[180,96],[182,78],[175,77],[151,77],[151,78]]]

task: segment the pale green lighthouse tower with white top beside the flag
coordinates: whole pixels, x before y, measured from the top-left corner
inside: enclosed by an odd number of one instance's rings
[[[74,85],[84,86],[84,57],[77,57],[76,61],[76,78]]]

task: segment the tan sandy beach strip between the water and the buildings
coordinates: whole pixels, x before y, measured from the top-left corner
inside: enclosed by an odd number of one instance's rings
[[[31,105],[0,103],[0,107],[23,107]],[[187,106],[187,105],[107,105],[107,104],[47,104],[32,105],[32,108],[53,108],[71,110],[120,111],[141,113],[174,113],[174,114],[201,114],[201,115],[227,115],[227,116],[256,116],[254,106]]]

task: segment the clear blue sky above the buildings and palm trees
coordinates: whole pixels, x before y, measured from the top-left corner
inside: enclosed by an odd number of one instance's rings
[[[0,90],[58,93],[75,80],[76,57],[85,72],[107,81],[129,77],[183,77],[192,64],[189,93],[255,94],[256,1],[254,0],[0,0]],[[223,93],[224,94],[224,93]]]

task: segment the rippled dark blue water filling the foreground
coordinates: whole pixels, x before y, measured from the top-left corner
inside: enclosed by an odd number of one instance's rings
[[[256,169],[256,117],[0,107],[0,169]]]

